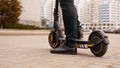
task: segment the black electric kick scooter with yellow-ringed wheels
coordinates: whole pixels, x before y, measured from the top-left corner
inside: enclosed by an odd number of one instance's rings
[[[50,46],[54,49],[59,46],[62,46],[65,43],[65,36],[63,29],[61,28],[59,22],[59,1],[56,0],[54,8],[54,26],[48,36],[48,41]],[[109,40],[103,31],[95,30],[92,31],[89,35],[88,41],[83,41],[80,39],[75,40],[77,43],[77,48],[88,49],[90,48],[91,52],[96,57],[102,57],[107,49]]]

